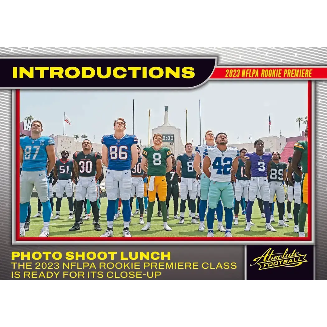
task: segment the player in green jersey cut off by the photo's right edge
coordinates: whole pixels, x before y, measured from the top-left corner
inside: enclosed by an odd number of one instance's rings
[[[304,136],[308,138],[308,128]],[[301,204],[299,211],[299,237],[305,237],[304,226],[308,212],[308,141],[297,141],[294,144],[292,168],[295,174],[301,177]],[[299,168],[301,166],[301,169]]]

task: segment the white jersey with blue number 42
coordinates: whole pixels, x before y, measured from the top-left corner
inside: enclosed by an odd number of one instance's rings
[[[227,146],[225,151],[220,151],[217,147],[208,147],[204,150],[203,156],[208,156],[211,161],[211,181],[231,182],[233,161],[240,156],[237,147]]]

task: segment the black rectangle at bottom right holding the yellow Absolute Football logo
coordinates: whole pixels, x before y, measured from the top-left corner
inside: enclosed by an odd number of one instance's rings
[[[248,245],[246,281],[314,280],[313,245]]]

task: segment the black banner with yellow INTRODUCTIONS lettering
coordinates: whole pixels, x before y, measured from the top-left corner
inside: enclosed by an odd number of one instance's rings
[[[0,58],[0,89],[193,88],[216,57]]]

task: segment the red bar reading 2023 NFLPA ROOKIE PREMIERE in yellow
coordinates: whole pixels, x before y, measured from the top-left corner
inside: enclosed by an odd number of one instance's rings
[[[211,79],[327,79],[321,67],[216,67]]]

